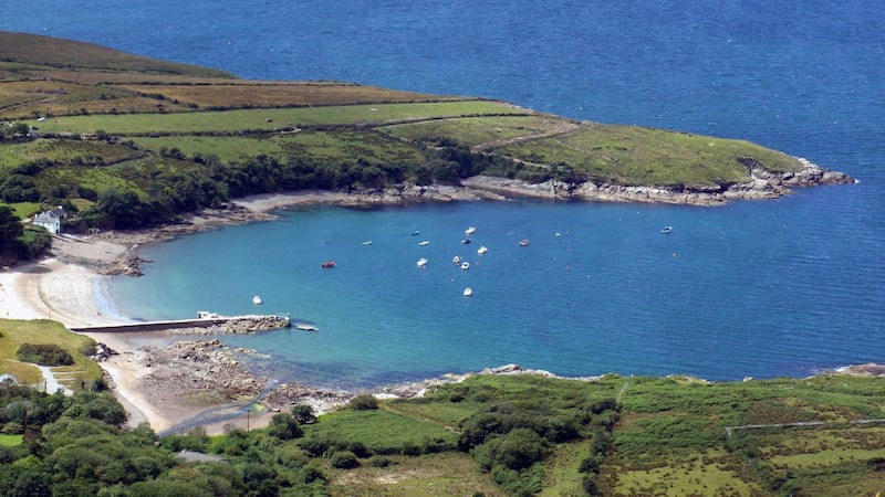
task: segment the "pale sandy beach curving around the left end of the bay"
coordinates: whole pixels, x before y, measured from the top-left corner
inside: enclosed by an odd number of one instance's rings
[[[339,200],[322,193],[260,195],[238,200],[232,209],[205,211],[189,216],[186,222],[174,226],[134,233],[55,236],[50,257],[0,269],[0,318],[52,319],[67,328],[124,322],[124,318],[107,315],[98,305],[102,302],[102,279],[108,274],[131,272],[133,265],[137,264],[137,260],[133,262],[134,250],[140,243],[169,240],[180,233],[209,230],[221,224],[268,219],[267,211],[285,205]],[[144,338],[143,334],[84,332],[84,335],[117,352],[102,361],[101,366],[111,380],[114,393],[128,412],[126,423],[128,426],[147,422],[155,432],[162,433],[188,420],[191,422],[199,420],[209,411],[216,413],[215,417],[225,414],[229,417],[223,423],[207,423],[209,433],[220,433],[227,424],[238,427],[247,425],[259,427],[269,422],[268,412],[252,413],[249,416],[238,414],[236,410],[239,403],[223,401],[219,403],[217,400],[200,403],[191,399],[183,400],[185,398],[180,391],[176,391],[176,384],[173,382],[176,380],[180,383],[183,381],[180,378],[170,379],[168,384],[157,380],[157,377],[166,373],[160,369],[162,364],[157,364],[157,358],[169,355],[164,355],[160,350],[148,353],[143,347],[134,343],[136,339]],[[222,360],[217,357],[211,359],[217,362]],[[183,367],[180,362],[176,362],[167,370],[176,368],[199,370],[206,369],[206,363]],[[227,370],[233,370],[233,373],[227,374],[228,382],[231,376],[237,377],[237,374],[241,382],[254,380],[236,368]],[[188,381],[197,380],[188,379]],[[150,388],[146,388],[148,383]],[[260,390],[258,387],[261,385],[257,385],[257,390]],[[211,384],[204,385],[204,389],[215,390]]]

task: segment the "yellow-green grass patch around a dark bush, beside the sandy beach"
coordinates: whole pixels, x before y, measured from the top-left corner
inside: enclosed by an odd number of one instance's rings
[[[71,353],[74,364],[53,368],[53,372],[72,390],[79,390],[81,381],[88,384],[102,377],[98,363],[82,352],[93,340],[69,331],[58,321],[0,319],[0,374],[12,374],[20,383],[35,384],[43,378],[33,364],[18,360],[15,353],[22,343],[54,343]]]

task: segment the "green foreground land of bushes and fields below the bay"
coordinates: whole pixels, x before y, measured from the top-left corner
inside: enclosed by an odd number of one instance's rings
[[[107,394],[3,383],[0,495],[875,495],[884,380],[480,376],[163,438]]]

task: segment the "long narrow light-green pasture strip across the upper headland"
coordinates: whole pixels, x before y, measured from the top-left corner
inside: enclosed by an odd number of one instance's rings
[[[417,104],[341,105],[192,112],[177,114],[103,114],[64,116],[38,123],[24,120],[43,133],[113,135],[236,133],[242,130],[277,130],[287,127],[317,125],[357,125],[384,121],[459,117],[482,114],[524,114],[500,102],[456,101]]]

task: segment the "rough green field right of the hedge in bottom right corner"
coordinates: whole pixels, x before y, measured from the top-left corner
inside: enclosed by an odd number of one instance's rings
[[[885,484],[885,423],[848,423],[885,417],[882,378],[633,379],[621,406],[605,495],[874,495]],[[789,425],[809,422],[824,424]],[[763,426],[733,429],[745,425]]]

